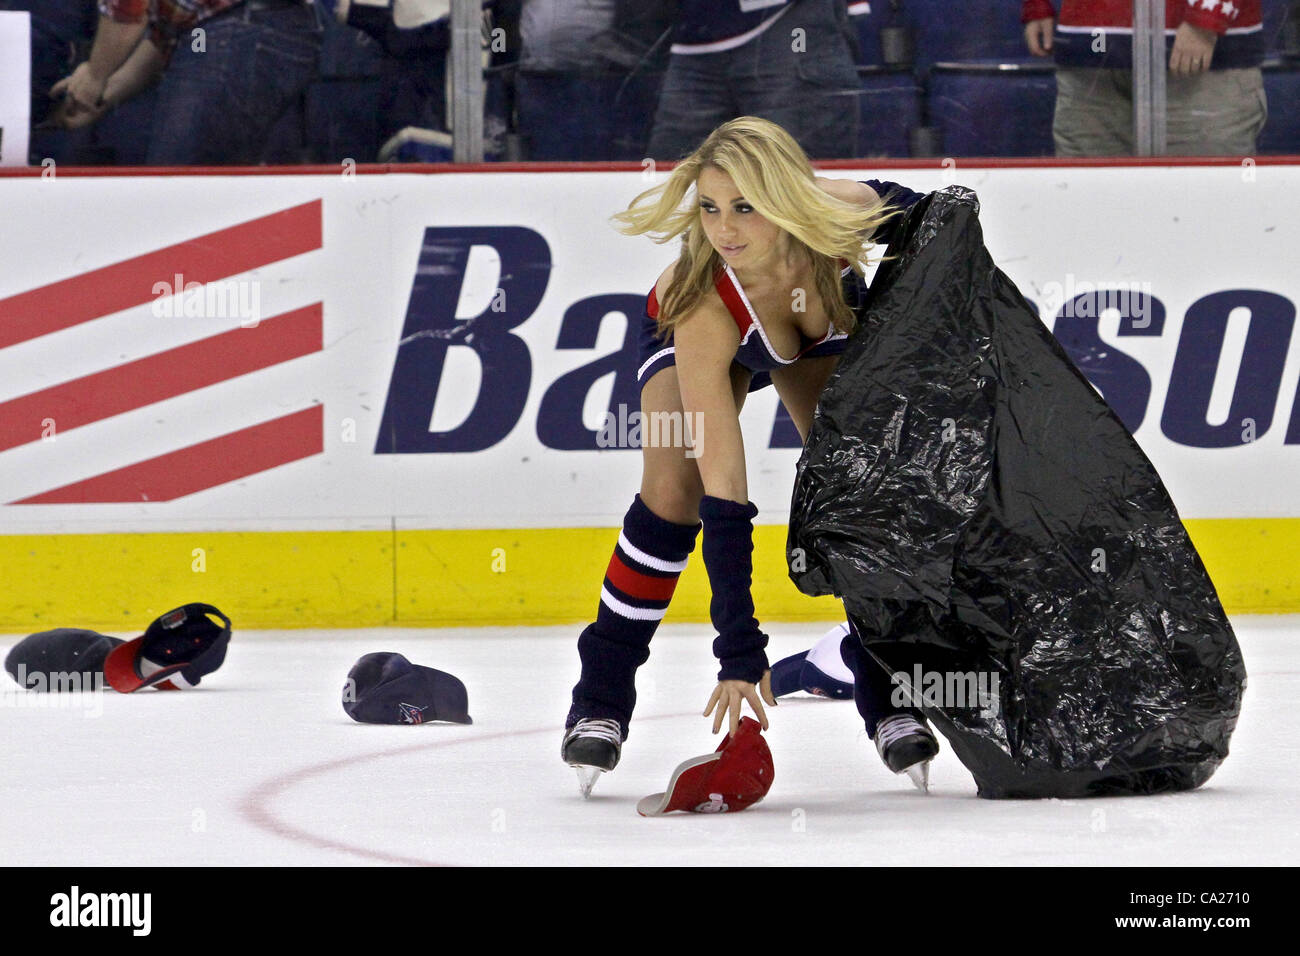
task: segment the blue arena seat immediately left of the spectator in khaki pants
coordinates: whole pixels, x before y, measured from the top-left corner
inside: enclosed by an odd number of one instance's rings
[[[944,155],[1053,155],[1054,70],[1043,60],[933,64],[927,103]]]

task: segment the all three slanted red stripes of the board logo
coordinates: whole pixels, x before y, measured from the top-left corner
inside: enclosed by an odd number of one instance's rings
[[[173,276],[183,276],[187,290],[202,290],[321,245],[317,199],[3,298],[0,360],[12,346],[156,302],[160,282]],[[0,402],[0,453],[42,440],[47,421],[60,433],[90,427],[321,349],[322,310],[313,302],[252,328],[69,378]],[[322,429],[324,408],[315,405],[9,503],[172,501],[321,454]]]

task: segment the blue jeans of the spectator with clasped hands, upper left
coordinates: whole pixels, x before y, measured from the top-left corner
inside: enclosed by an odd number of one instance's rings
[[[148,164],[259,163],[276,121],[317,78],[320,49],[315,7],[235,7],[182,34],[159,86]]]

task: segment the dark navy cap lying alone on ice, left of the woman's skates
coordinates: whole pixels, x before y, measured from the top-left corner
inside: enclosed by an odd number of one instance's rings
[[[473,723],[469,695],[458,678],[393,652],[365,654],[352,665],[343,710],[360,723]]]

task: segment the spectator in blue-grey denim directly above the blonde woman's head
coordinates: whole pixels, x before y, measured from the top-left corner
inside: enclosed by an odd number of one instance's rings
[[[855,155],[855,49],[845,0],[680,0],[649,153],[676,160],[749,114],[810,159]]]

